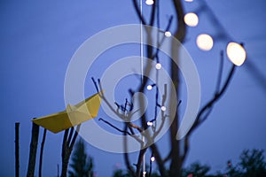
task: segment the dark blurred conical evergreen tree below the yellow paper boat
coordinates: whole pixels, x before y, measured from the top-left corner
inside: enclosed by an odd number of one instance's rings
[[[93,160],[88,157],[85,150],[85,144],[80,139],[74,145],[74,152],[71,157],[71,169],[68,171],[70,177],[92,177]]]

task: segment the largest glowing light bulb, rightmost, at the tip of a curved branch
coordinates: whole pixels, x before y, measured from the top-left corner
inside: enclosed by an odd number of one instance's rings
[[[234,65],[242,65],[246,60],[246,50],[237,42],[228,43],[226,53]]]

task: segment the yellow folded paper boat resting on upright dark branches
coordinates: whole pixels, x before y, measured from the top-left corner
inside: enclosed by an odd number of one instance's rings
[[[32,121],[53,133],[59,133],[69,127],[74,127],[98,115],[101,98],[98,94],[90,96],[79,104],[67,104],[66,111],[57,112]]]

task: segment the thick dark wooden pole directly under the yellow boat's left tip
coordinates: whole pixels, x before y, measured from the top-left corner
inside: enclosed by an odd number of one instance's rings
[[[31,132],[31,142],[29,150],[29,158],[27,165],[27,177],[34,177],[35,175],[35,160],[36,160],[36,151],[39,139],[39,126],[35,123],[32,123],[32,132]]]

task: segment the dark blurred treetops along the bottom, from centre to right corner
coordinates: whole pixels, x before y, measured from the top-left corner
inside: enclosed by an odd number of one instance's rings
[[[183,177],[266,177],[266,162],[263,150],[243,150],[239,157],[239,163],[233,165],[231,160],[227,162],[225,171],[210,173],[209,165],[201,165],[194,162],[182,170]],[[121,169],[113,172],[113,177],[129,177],[129,173]],[[158,173],[152,173],[151,177],[159,177]]]

